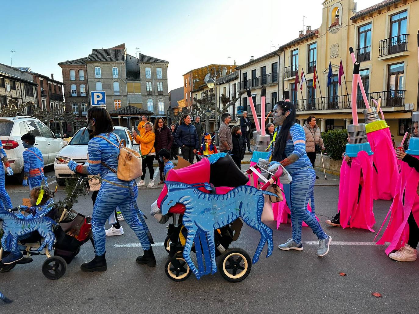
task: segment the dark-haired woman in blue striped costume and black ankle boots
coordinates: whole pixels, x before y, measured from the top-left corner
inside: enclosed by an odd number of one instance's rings
[[[138,189],[135,181],[119,180],[118,168],[119,138],[113,133],[114,125],[105,108],[90,108],[87,114],[87,129],[93,138],[88,144],[88,164],[83,166],[70,160],[68,167],[86,175],[98,175],[102,178],[101,188],[93,207],[92,232],[95,244],[95,258],[81,265],[84,272],[105,271],[105,223],[116,207],[119,206],[125,221],[141,242],[144,255],[137,257],[137,263],[156,265],[153,249],[148,237],[149,231],[137,208]],[[114,172],[114,171],[115,172]],[[140,215],[140,216],[139,216]]]

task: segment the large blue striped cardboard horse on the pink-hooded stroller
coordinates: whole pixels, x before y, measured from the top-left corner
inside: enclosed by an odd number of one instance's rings
[[[274,247],[272,229],[261,221],[261,215],[264,207],[264,194],[276,196],[274,193],[258,190],[250,185],[241,185],[226,194],[209,194],[198,189],[204,187],[207,190],[212,190],[209,183],[194,185],[174,181],[166,181],[165,183],[168,193],[161,203],[162,214],[167,214],[176,203],[184,204],[186,207],[183,224],[188,230],[188,234],[183,256],[198,279],[202,275],[217,271],[214,230],[232,223],[239,217],[261,234],[261,239],[253,256],[253,264],[259,260],[259,255],[266,242],[268,244],[266,257],[272,254]],[[202,257],[199,258],[197,254],[199,269],[195,267],[191,260],[190,252],[194,240],[195,247],[198,244],[199,251],[202,249],[206,266],[210,265],[210,269],[205,272],[202,269]],[[202,247],[199,242],[201,242]]]

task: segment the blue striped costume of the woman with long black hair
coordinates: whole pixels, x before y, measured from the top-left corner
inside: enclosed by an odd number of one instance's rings
[[[281,126],[278,127],[278,134]],[[314,183],[316,172],[305,153],[305,132],[299,124],[293,124],[290,128],[291,139],[287,139],[285,155],[295,159],[289,165],[284,165],[290,172],[292,182],[284,184],[285,198],[291,210],[292,240],[295,243],[301,242],[301,228],[303,221],[313,230],[316,236],[323,240],[327,238],[326,233],[314,216]],[[277,137],[278,138],[278,137]],[[311,198],[312,211],[307,209],[308,201]]]

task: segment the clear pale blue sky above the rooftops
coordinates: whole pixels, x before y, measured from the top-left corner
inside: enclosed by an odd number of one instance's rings
[[[243,64],[321,24],[321,0],[1,1],[0,63],[62,80],[58,62],[122,43],[169,61],[169,90],[207,64]],[[358,0],[362,10],[380,0]],[[271,48],[272,41],[272,48]]]

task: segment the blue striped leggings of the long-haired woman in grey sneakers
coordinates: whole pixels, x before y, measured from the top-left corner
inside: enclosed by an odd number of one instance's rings
[[[316,182],[316,172],[313,167],[306,167],[303,169],[290,172],[292,182],[286,187],[290,197],[287,196],[288,207],[291,210],[291,224],[292,224],[292,240],[295,243],[301,242],[301,228],[303,221],[313,230],[316,236],[323,240],[327,238],[327,234],[321,228],[319,222],[313,213],[307,209],[307,204],[312,199],[314,204],[314,183]],[[286,185],[284,185],[285,187]],[[287,194],[288,194],[287,193]],[[313,205],[314,206],[314,205]],[[314,212],[314,208],[313,208]]]

